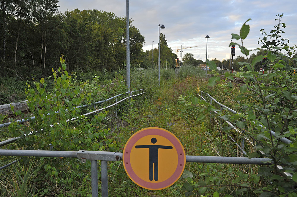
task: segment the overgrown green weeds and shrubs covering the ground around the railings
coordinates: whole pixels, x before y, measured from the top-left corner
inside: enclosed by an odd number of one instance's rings
[[[276,31],[266,37],[278,39],[282,36],[282,15],[279,17]],[[249,25],[246,23],[240,34],[233,34],[233,38],[242,41],[237,45],[247,56],[250,50],[243,46],[249,33]],[[112,80],[107,73],[84,80],[83,77],[89,78],[89,74],[80,77],[68,73],[66,62],[61,57],[61,67],[52,70],[51,80],[41,78],[27,84],[29,108],[36,118],[24,125],[13,123],[0,129],[1,141],[22,136],[17,142],[3,148],[122,152],[134,132],[157,126],[173,132],[184,145],[187,155],[243,156],[228,135],[237,142],[247,137],[253,142],[245,143],[244,150],[248,156],[259,157],[258,150],[262,150],[262,157],[271,158],[274,164],[187,163],[184,174],[174,185],[152,192],[136,186],[124,172],[121,161],[108,162],[109,194],[294,197],[297,182],[297,97],[294,89],[296,77],[292,71],[296,69],[296,46],[288,47],[284,42],[275,43],[271,49],[269,43],[263,43],[263,46],[270,49],[267,53],[267,67],[270,71],[264,75],[255,71],[263,55],[255,57],[251,62],[239,63],[243,67],[241,71],[226,73],[222,80],[215,71],[217,65],[214,62],[208,62],[215,75],[209,80],[205,77],[205,71],[193,66],[183,66],[178,75],[173,69],[161,69],[160,87],[157,69],[132,68],[131,90],[144,88],[146,94],[91,117],[80,114],[94,110],[93,105],[89,108],[73,107],[126,92],[122,71],[114,73]],[[244,79],[244,84],[236,82],[234,77]],[[53,81],[50,89],[47,89],[48,81]],[[209,100],[200,100],[197,96],[200,91],[207,92],[238,113],[221,111]],[[97,108],[107,105],[104,103]],[[119,110],[117,117],[113,114],[114,110]],[[19,111],[15,113],[20,114]],[[47,113],[49,115],[45,115]],[[75,120],[68,121],[74,117]],[[227,119],[241,132],[227,126],[223,121]],[[270,130],[275,131],[276,136],[272,136]],[[33,135],[25,137],[30,132]],[[281,142],[282,137],[289,138],[292,143]],[[15,159],[1,157],[0,164],[3,166]],[[276,165],[284,168],[277,171]],[[0,193],[1,196],[91,196],[90,167],[89,161],[81,164],[75,158],[22,157],[13,166],[0,171]],[[293,177],[284,177],[280,172],[290,172]],[[100,171],[98,177],[100,180]]]

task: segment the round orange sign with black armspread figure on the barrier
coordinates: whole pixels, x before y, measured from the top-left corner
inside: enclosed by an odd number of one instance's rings
[[[171,132],[149,127],[133,134],[123,151],[124,168],[142,188],[161,190],[173,185],[184,172],[186,154]]]

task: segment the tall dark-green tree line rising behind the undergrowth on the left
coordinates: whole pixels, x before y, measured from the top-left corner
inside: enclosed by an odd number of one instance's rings
[[[125,17],[95,9],[61,13],[58,7],[58,0],[0,1],[0,76],[48,76],[62,55],[68,72],[125,68]],[[152,66],[149,52],[142,50],[144,36],[132,20],[129,28],[130,65]],[[163,34],[160,43],[162,64],[174,65]]]

